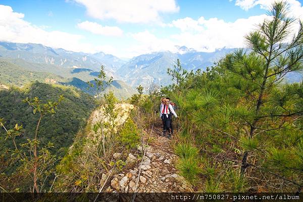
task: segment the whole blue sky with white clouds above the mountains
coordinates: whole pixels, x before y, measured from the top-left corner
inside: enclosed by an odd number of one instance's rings
[[[0,0],[0,41],[131,58],[245,47],[275,0]],[[286,0],[303,20],[303,0]]]

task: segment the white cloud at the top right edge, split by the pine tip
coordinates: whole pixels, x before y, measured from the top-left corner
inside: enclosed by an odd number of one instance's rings
[[[249,9],[260,5],[261,9],[268,9],[276,0],[236,0],[235,5],[241,9],[248,11]],[[296,18],[303,19],[303,7],[297,0],[286,0],[289,4],[291,15]]]

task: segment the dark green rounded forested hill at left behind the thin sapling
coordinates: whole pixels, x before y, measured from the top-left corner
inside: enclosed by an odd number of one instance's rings
[[[85,124],[94,107],[92,98],[75,88],[38,82],[28,84],[22,89],[14,88],[0,91],[0,117],[5,120],[8,128],[12,128],[18,123],[23,125],[25,129],[17,143],[33,137],[38,120],[38,115],[32,113],[32,107],[22,102],[22,100],[27,97],[38,97],[43,101],[55,101],[60,95],[64,95],[65,99],[62,101],[57,113],[53,116],[45,117],[40,126],[41,143],[46,144],[48,141],[55,143],[53,151],[56,153],[61,148],[64,149],[72,144],[74,134]],[[3,128],[0,131],[2,134],[5,132]],[[1,137],[3,138],[4,136],[2,135]],[[6,142],[8,145],[2,144],[2,152],[6,146],[9,146],[9,148],[12,146],[8,141],[3,141],[2,143]],[[61,152],[63,151],[61,150]]]

